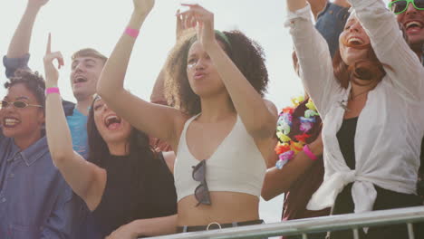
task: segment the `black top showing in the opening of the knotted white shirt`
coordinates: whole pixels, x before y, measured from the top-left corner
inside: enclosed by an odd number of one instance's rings
[[[355,169],[355,132],[357,123],[358,117],[343,119],[342,127],[336,135],[346,165],[352,170]]]

